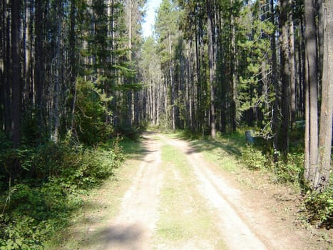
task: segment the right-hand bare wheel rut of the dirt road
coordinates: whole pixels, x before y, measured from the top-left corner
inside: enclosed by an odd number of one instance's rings
[[[242,207],[240,191],[232,189],[222,176],[217,176],[208,168],[208,164],[200,156],[200,153],[191,149],[185,141],[161,138],[168,144],[173,145],[183,151],[186,159],[193,167],[196,178],[198,179],[198,191],[205,197],[210,207],[217,211],[217,221],[221,234],[225,238],[230,249],[279,249],[272,246],[266,237],[256,231],[254,224],[255,217],[245,211]],[[232,199],[232,202],[230,202]],[[247,221],[240,214],[245,214]],[[250,224],[250,225],[249,225]],[[262,240],[264,238],[265,240]]]

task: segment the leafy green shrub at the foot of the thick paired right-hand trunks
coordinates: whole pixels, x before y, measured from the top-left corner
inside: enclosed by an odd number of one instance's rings
[[[304,200],[307,219],[310,222],[319,221],[327,229],[333,228],[333,186],[332,184],[322,193],[312,192]]]

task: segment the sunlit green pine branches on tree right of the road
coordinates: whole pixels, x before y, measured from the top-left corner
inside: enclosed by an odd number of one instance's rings
[[[256,125],[267,129],[266,125],[272,116],[270,104],[276,96],[269,80],[272,65],[268,60],[272,54],[270,37],[275,31],[275,26],[263,10],[262,2],[255,1],[253,4],[245,5],[240,12],[239,33],[242,36],[237,44],[243,58],[243,69],[237,85],[237,94],[242,114],[251,109],[261,112],[264,114],[261,119],[264,120],[264,124],[257,121]],[[265,21],[262,20],[264,18]],[[272,135],[271,131],[268,132]]]

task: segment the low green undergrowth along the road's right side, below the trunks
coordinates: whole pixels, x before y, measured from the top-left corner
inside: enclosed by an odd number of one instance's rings
[[[272,171],[273,182],[292,184],[304,194],[302,202],[302,220],[319,227],[331,229],[333,227],[333,181],[321,193],[311,191],[304,184],[304,155],[300,152],[287,154],[285,158],[279,157],[274,161],[272,155],[262,154],[257,146],[247,145],[242,149],[242,161],[252,170],[265,169]]]

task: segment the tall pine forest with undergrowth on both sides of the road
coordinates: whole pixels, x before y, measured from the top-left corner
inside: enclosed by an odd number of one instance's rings
[[[145,4],[1,1],[1,249],[42,249],[148,127],[252,130],[332,223],[333,2],[163,0],[150,37]]]

